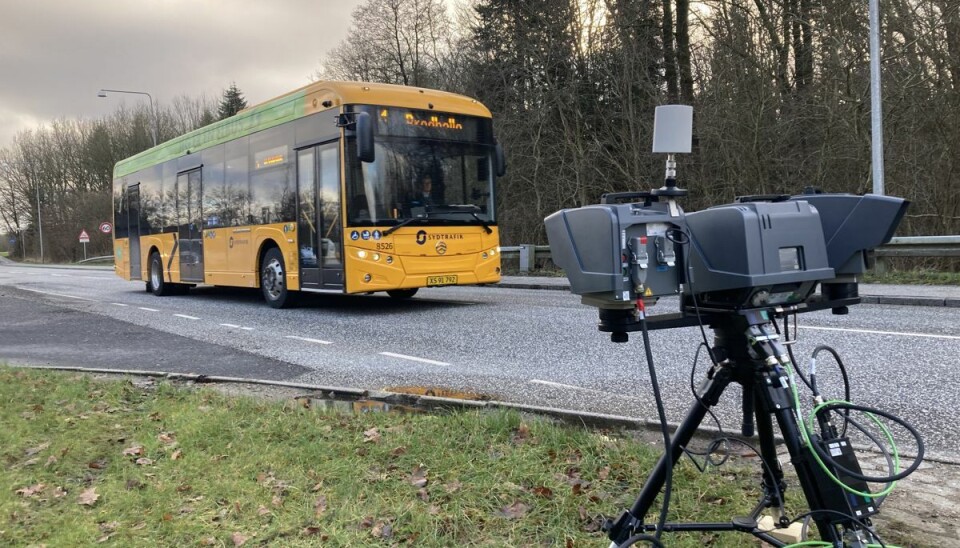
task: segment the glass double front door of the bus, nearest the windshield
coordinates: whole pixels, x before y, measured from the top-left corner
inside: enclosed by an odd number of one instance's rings
[[[339,143],[297,152],[300,280],[304,289],[343,289]]]

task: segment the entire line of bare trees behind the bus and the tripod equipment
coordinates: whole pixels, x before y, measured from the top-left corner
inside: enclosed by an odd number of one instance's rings
[[[885,190],[912,202],[899,234],[958,234],[960,4],[883,0],[881,13]],[[509,162],[504,243],[543,243],[557,209],[661,185],[661,104],[694,106],[694,150],[678,158],[687,210],[807,187],[869,192],[868,21],[867,2],[843,0],[366,0],[314,76],[486,104]],[[203,108],[168,107],[162,138]],[[62,204],[51,226],[87,207],[108,215],[109,166],[149,144],[147,114],[59,121],[0,151],[7,231],[33,230],[37,188],[41,204]]]

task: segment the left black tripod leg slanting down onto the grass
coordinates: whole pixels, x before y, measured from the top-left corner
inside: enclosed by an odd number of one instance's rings
[[[690,440],[693,439],[697,428],[707,415],[707,410],[720,401],[720,395],[732,380],[731,370],[727,367],[720,367],[714,371],[713,377],[707,381],[700,401],[695,402],[690,407],[683,422],[680,423],[680,426],[671,438],[670,447],[674,464],[680,460],[680,457],[683,455],[683,449],[690,443]],[[616,522],[608,522],[606,524],[605,530],[611,541],[616,544],[622,544],[630,538],[633,532],[639,531],[642,528],[643,518],[650,510],[654,501],[656,501],[657,495],[659,495],[663,489],[666,478],[667,455],[665,453],[660,457],[656,468],[654,468],[650,476],[647,477],[647,481],[643,484],[643,489],[640,490],[640,495],[630,510],[624,512]]]

